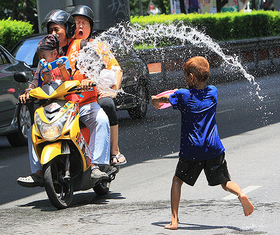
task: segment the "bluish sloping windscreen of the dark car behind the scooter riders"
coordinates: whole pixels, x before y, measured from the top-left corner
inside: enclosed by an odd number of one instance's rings
[[[39,40],[41,38],[35,38],[35,39],[28,39],[25,41],[22,41],[14,50],[13,50],[13,56],[20,61],[25,62],[30,67],[37,67],[37,64],[34,64],[38,61],[36,49],[37,45],[39,43]]]

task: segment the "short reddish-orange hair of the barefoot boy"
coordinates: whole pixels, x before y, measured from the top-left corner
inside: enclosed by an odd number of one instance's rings
[[[195,56],[189,59],[184,64],[183,69],[188,76],[193,73],[200,82],[205,82],[210,73],[208,60],[202,56]]]

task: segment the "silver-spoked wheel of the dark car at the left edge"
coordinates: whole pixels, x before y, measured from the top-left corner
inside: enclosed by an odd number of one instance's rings
[[[30,104],[21,104],[18,109],[18,131],[7,135],[9,143],[13,147],[27,145],[28,129],[33,124],[33,110]]]

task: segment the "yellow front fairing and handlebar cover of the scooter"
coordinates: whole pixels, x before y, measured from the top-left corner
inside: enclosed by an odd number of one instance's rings
[[[65,85],[65,83],[69,85]],[[38,97],[60,97],[67,94],[76,87],[73,81],[59,84],[51,84],[36,88]],[[43,89],[45,88],[45,89]],[[40,89],[42,91],[40,91]],[[53,92],[51,93],[51,91]],[[65,92],[66,90],[66,92]],[[56,93],[56,94],[54,94]],[[34,96],[34,92],[32,96]],[[40,94],[40,95],[39,95]],[[62,99],[50,99],[43,106],[39,107],[34,115],[34,125],[32,129],[32,142],[35,152],[41,164],[46,164],[58,155],[69,154],[65,151],[65,145],[75,146],[79,152],[83,165],[83,171],[90,166],[91,154],[79,126],[79,109],[77,103]]]

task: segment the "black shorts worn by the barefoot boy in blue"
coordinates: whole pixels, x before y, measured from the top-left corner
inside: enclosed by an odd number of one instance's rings
[[[179,158],[175,175],[186,184],[194,186],[202,169],[204,169],[208,185],[210,186],[231,181],[224,152],[214,159],[203,161]]]

